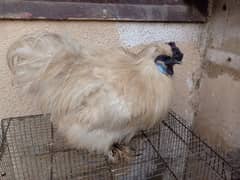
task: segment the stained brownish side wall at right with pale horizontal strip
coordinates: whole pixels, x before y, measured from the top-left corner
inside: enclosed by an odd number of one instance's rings
[[[227,151],[240,148],[239,9],[239,1],[215,1],[207,30],[200,108],[195,120],[202,137]]]

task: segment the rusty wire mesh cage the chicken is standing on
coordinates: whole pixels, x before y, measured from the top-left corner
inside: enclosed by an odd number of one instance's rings
[[[190,126],[169,112],[154,128],[139,132],[131,146],[136,156],[112,164],[98,153],[71,149],[49,115],[1,121],[2,180],[236,180],[239,172]]]

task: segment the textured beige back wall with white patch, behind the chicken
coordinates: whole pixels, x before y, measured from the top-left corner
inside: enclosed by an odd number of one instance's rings
[[[199,47],[202,29],[199,24],[113,23],[113,22],[54,22],[54,21],[0,21],[0,118],[40,113],[28,97],[19,97],[11,85],[6,65],[6,52],[20,36],[47,30],[69,35],[82,44],[96,47],[134,46],[151,41],[177,41],[184,52],[184,64],[176,67],[174,77],[176,98],[173,108],[192,121],[195,102],[194,84],[200,69]]]

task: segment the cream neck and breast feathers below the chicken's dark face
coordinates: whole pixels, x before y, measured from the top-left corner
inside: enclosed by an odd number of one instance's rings
[[[143,121],[140,124],[148,128],[167,112],[173,93],[173,84],[171,77],[159,72],[154,63],[139,64],[139,69],[140,73],[135,74],[137,78],[133,78],[131,82],[133,86],[127,88],[128,93],[132,93],[130,98],[136,97],[131,102],[134,102],[133,110],[135,111],[136,108],[138,114],[142,114]]]

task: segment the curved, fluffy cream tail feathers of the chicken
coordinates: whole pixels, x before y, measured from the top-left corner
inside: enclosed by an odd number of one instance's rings
[[[51,63],[63,53],[76,55],[79,46],[54,33],[37,33],[22,37],[8,50],[7,64],[15,85],[24,89],[36,88]]]

